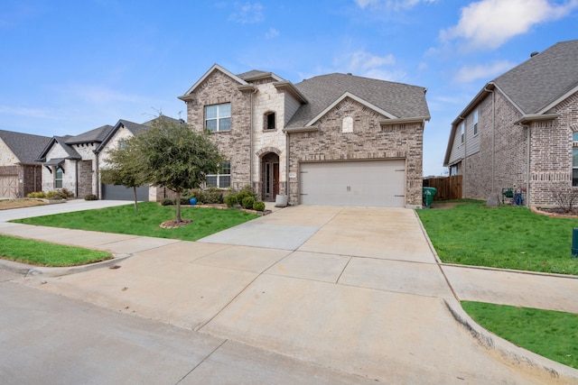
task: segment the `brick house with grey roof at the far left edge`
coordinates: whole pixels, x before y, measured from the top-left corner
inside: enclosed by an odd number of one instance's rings
[[[50,140],[0,130],[0,197],[26,197],[42,190],[42,165],[36,156]]]

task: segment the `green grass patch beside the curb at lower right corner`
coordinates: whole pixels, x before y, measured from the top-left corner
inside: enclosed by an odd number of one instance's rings
[[[578,369],[578,315],[464,301],[463,309],[495,335]]]

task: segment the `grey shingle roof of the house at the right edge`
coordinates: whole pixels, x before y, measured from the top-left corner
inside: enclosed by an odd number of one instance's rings
[[[545,113],[578,87],[578,40],[556,43],[493,83],[523,115]]]

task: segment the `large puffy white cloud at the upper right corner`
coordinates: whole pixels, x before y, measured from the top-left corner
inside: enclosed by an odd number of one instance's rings
[[[471,49],[495,49],[538,23],[557,20],[578,7],[548,0],[481,0],[461,8],[460,22],[440,32],[443,41],[463,39]]]

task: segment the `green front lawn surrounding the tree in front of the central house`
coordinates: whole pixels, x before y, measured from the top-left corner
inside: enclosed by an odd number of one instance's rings
[[[182,206],[182,218],[192,223],[180,228],[163,229],[159,225],[175,218],[174,206],[159,206],[154,202],[77,211],[58,215],[36,216],[14,222],[69,229],[92,230],[105,233],[133,234],[196,241],[204,236],[240,225],[257,215],[240,210],[221,210]]]

